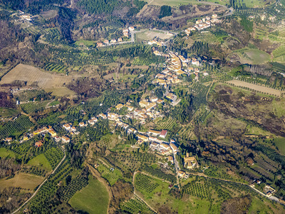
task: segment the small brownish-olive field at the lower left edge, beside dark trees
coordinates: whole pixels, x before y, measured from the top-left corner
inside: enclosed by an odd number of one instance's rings
[[[2,190],[8,187],[19,187],[33,190],[43,181],[44,178],[38,175],[18,173],[14,176],[14,178],[8,180],[5,179],[6,178],[0,179],[0,189]]]

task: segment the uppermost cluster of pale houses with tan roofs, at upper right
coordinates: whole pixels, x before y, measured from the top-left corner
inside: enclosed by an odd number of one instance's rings
[[[218,15],[217,14],[213,14],[212,18],[209,16],[206,16],[203,19],[198,19],[196,21],[196,24],[188,29],[185,30],[185,33],[187,34],[187,36],[190,35],[191,31],[202,31],[204,29],[209,28],[211,25],[220,23],[222,20],[218,19]]]

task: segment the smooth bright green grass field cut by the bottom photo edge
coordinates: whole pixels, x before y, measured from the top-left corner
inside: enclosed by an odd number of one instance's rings
[[[89,214],[107,213],[108,192],[104,185],[95,178],[90,178],[89,184],[77,192],[69,203],[76,210],[81,210]]]

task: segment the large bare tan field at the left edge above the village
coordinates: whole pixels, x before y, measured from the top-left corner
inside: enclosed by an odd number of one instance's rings
[[[62,87],[63,83],[70,83],[73,77],[46,73],[36,67],[19,64],[7,73],[0,81],[0,84],[13,83],[13,81],[26,81],[27,86],[37,83],[41,88]]]

